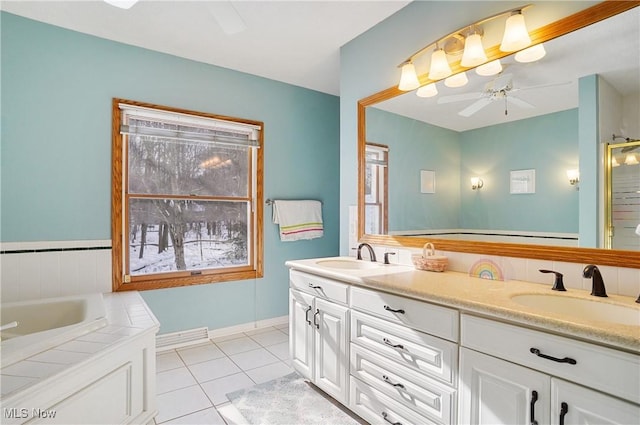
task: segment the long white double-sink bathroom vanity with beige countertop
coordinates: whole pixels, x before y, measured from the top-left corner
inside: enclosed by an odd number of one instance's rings
[[[630,297],[342,257],[286,264],[295,369],[368,422],[640,417],[640,306]],[[555,297],[579,308],[543,310]]]

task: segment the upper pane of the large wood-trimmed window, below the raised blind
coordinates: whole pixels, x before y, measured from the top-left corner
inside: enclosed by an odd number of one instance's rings
[[[246,147],[129,136],[129,193],[247,197]]]

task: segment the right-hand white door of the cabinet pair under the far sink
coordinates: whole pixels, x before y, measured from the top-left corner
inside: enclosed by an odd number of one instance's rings
[[[315,299],[315,384],[342,403],[347,402],[347,311],[346,307]]]

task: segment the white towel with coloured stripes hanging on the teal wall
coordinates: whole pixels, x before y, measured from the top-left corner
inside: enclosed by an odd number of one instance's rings
[[[281,241],[320,238],[322,203],[320,201],[273,201],[273,222],[280,225]]]

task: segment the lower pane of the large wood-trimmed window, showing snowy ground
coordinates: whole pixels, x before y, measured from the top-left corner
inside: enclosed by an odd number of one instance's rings
[[[249,202],[131,199],[129,274],[249,263]]]

